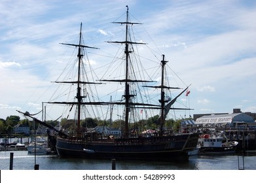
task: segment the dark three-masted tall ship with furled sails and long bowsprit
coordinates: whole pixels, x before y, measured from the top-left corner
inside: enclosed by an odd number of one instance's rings
[[[114,24],[120,24],[124,27],[124,41],[107,41],[109,44],[119,45],[119,50],[122,49],[122,56],[119,55],[120,62],[117,59],[113,59],[111,67],[114,67],[116,73],[122,73],[120,77],[117,75],[112,76],[114,71],[105,69],[107,73],[104,76],[109,78],[100,78],[98,80],[84,80],[88,79],[86,73],[84,73],[84,55],[88,49],[98,49],[92,46],[86,46],[83,44],[82,39],[82,24],[79,33],[79,43],[69,44],[62,43],[67,46],[74,46],[78,49],[76,59],[77,78],[70,78],[66,81],[56,81],[57,84],[70,84],[76,86],[76,94],[73,96],[75,101],[50,101],[48,103],[52,105],[64,105],[75,110],[74,129],[71,133],[66,133],[64,130],[57,130],[54,127],[42,122],[29,114],[24,112],[24,116],[29,116],[39,122],[39,124],[46,125],[50,129],[56,131],[56,136],[50,137],[56,143],[56,151],[61,157],[71,158],[97,158],[97,159],[149,159],[149,160],[164,160],[164,161],[176,161],[189,159],[188,152],[191,152],[196,148],[198,142],[198,134],[180,133],[173,129],[166,127],[166,116],[170,110],[181,110],[184,108],[174,108],[174,103],[177,98],[187,91],[189,86],[185,88],[173,88],[166,85],[165,71],[168,61],[165,60],[165,56],[162,55],[160,63],[160,85],[152,86],[153,80],[145,80],[140,76],[145,76],[143,70],[136,69],[138,65],[141,65],[139,61],[136,61],[137,54],[135,50],[137,46],[143,46],[145,43],[136,42],[132,39],[132,26],[139,25],[141,23],[131,22],[129,17],[129,10],[126,10],[126,20],[124,22],[113,22]],[[122,69],[118,69],[114,64],[123,63]],[[139,74],[139,75],[136,75]],[[91,89],[90,86],[100,86],[101,84],[119,84],[120,88],[124,88],[120,99],[109,101],[101,101],[99,97],[89,96],[90,92],[96,93],[96,88]],[[84,88],[84,87],[88,87]],[[120,91],[120,88],[117,90]],[[105,92],[108,92],[107,88]],[[160,98],[156,101],[158,103],[151,103],[151,100],[145,99],[145,90],[158,90]],[[166,90],[179,90],[180,92],[173,98],[166,95]],[[140,101],[138,98],[144,98]],[[110,108],[122,107],[119,111],[122,115],[120,117],[120,126],[115,133],[111,133],[111,127],[100,127],[98,131],[96,128],[90,130],[82,127],[82,116],[85,112],[91,108],[99,107]],[[188,109],[189,108],[185,108]],[[144,118],[149,119],[150,112],[158,111],[157,118],[154,120],[155,125],[158,125],[155,129],[151,129],[151,132],[147,133],[145,125],[145,119],[136,120],[136,116],[144,114]],[[113,111],[113,110],[112,110]],[[100,118],[100,114],[99,114]],[[152,118],[153,119],[153,118]],[[110,126],[112,121],[110,120]]]

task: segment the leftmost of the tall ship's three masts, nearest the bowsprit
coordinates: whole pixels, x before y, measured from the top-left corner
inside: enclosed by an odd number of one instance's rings
[[[78,76],[77,76],[77,137],[80,137],[81,133],[81,103],[82,103],[82,96],[81,96],[81,61],[82,61],[82,53],[81,53],[81,39],[82,39],[82,23],[80,26],[80,35],[79,35],[79,48],[77,58],[79,60],[78,64]]]

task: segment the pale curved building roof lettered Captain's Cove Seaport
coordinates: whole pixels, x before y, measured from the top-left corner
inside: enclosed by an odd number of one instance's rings
[[[254,122],[253,118],[244,112],[232,114],[216,114],[202,116],[196,119],[196,124],[230,124],[232,122]]]

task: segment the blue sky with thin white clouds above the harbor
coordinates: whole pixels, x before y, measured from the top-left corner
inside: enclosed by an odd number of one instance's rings
[[[1,0],[0,118],[39,111],[64,65],[59,43],[74,42],[81,22],[86,43],[101,50],[92,56],[100,67],[100,55],[113,52],[105,45],[111,22],[126,5],[191,84],[191,115],[256,112],[256,1]]]

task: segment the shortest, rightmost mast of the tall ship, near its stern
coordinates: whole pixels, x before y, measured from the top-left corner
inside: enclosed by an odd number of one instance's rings
[[[160,99],[160,104],[161,104],[161,116],[160,116],[160,135],[163,134],[163,125],[164,125],[164,97],[165,97],[165,93],[164,93],[164,66],[166,65],[168,61],[164,60],[164,55],[162,55],[162,76],[161,76],[161,99]]]

